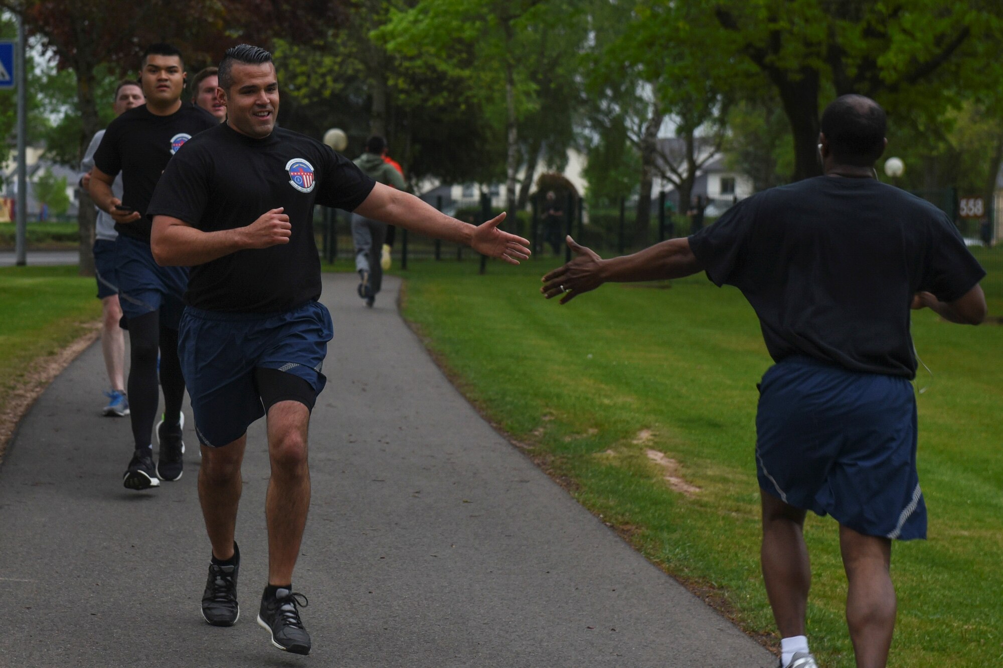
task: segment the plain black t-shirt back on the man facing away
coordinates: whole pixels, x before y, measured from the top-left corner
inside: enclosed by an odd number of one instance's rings
[[[711,281],[745,295],[775,361],[800,354],[907,378],[913,295],[950,302],[986,274],[943,212],[873,179],[765,191],[689,242]]]

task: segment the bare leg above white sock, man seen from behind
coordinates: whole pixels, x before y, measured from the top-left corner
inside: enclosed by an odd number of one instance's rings
[[[802,530],[805,512],[760,489],[762,579],[781,638],[803,636],[811,567]]]

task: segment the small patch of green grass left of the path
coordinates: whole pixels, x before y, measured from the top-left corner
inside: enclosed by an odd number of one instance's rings
[[[76,267],[0,268],[0,405],[39,357],[59,352],[101,315],[94,279]]]

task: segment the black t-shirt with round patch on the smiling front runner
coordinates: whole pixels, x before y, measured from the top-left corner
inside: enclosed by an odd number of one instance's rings
[[[237,251],[189,274],[186,301],[208,311],[275,313],[320,297],[314,205],[354,211],[375,182],[329,146],[277,127],[254,139],[222,123],[168,165],[146,212],[203,232],[251,225],[283,207],[288,244]]]

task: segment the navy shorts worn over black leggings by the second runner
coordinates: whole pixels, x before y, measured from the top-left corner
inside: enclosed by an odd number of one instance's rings
[[[160,312],[160,324],[178,329],[185,310],[187,267],[160,267],[149,243],[125,235],[115,240],[118,261],[118,302],[126,320]]]

